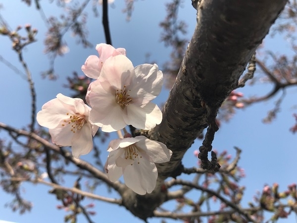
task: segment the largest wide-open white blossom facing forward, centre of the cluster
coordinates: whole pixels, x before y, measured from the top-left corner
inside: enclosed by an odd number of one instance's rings
[[[98,80],[92,82],[87,101],[92,107],[90,122],[112,132],[133,125],[151,129],[162,121],[162,112],[151,103],[159,95],[163,74],[156,64],[133,67],[123,55],[111,56],[102,66]]]

